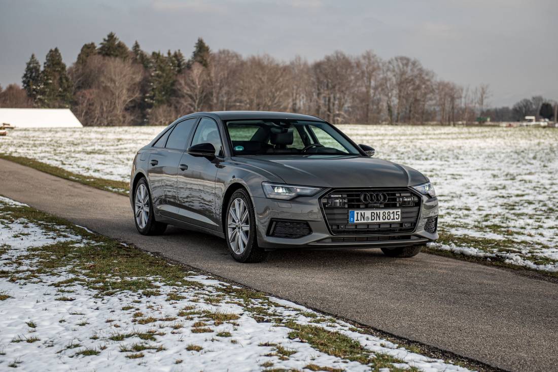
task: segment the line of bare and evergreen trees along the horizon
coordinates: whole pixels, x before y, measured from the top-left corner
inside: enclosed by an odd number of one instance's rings
[[[372,51],[336,51],[315,62],[300,56],[283,62],[212,51],[199,38],[186,59],[180,50],[148,54],[137,41],[129,49],[111,32],[99,45],[83,45],[69,68],[57,48],[42,69],[33,54],[22,88],[0,87],[0,107],[71,108],[84,125],[166,125],[213,110],[288,111],[365,124],[521,120],[552,110],[541,97],[491,108],[490,96],[486,84],[470,88],[437,79],[406,56],[382,60]]]

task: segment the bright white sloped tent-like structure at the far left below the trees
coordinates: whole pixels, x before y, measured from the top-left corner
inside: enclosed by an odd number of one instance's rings
[[[3,123],[15,128],[81,128],[83,125],[70,109],[8,109],[0,108]]]

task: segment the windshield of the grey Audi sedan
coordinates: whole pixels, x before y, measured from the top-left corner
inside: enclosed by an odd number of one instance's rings
[[[229,120],[235,155],[359,155],[353,144],[325,122],[304,120]]]

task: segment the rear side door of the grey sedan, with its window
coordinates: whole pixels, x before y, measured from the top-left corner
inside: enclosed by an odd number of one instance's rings
[[[162,144],[163,147],[161,147],[160,141],[153,144],[147,173],[153,197],[153,208],[164,216],[174,217],[177,214],[178,165],[197,121],[198,118],[182,120],[172,127],[168,134],[163,135],[163,137],[167,137]],[[160,147],[156,147],[156,145]]]

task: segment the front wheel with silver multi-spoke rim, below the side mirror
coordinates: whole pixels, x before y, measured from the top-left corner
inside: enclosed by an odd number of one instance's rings
[[[254,207],[246,190],[238,189],[230,196],[224,223],[227,247],[235,260],[254,263],[266,258],[265,250],[258,247]]]

